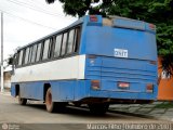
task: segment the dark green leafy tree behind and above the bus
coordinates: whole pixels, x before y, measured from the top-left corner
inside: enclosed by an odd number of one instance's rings
[[[53,3],[55,0],[45,0]],[[158,54],[163,56],[162,67],[173,70],[173,0],[58,0],[67,15],[119,15],[154,23],[157,26]],[[99,3],[92,6],[92,3]]]

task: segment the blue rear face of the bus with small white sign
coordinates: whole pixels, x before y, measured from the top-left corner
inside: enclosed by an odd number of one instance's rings
[[[99,80],[98,91],[146,93],[150,95],[146,100],[157,99],[156,34],[145,28],[147,23],[138,23],[143,29],[83,25],[80,53],[89,55],[85,79]],[[130,88],[122,90],[118,82],[128,82]],[[148,84],[154,86],[154,93],[147,93]]]

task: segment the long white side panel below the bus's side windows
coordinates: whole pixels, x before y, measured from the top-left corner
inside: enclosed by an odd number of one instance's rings
[[[85,55],[77,55],[15,69],[12,82],[84,79]]]

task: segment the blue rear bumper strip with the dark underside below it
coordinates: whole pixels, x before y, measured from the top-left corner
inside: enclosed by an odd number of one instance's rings
[[[108,104],[148,104],[156,101],[156,96],[147,93],[91,91],[90,96],[79,100],[81,103]]]

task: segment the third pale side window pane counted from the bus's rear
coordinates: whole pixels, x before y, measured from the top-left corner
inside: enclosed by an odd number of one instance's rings
[[[61,55],[61,44],[62,44],[62,35],[58,35],[55,38],[54,57],[58,57]]]

